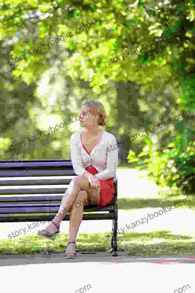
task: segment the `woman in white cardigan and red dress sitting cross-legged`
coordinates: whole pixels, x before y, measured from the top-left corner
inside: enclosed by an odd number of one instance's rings
[[[87,113],[87,114],[86,114]],[[82,117],[83,116],[83,117]],[[118,165],[118,151],[108,151],[108,146],[115,145],[113,134],[102,130],[106,125],[106,113],[101,102],[89,100],[82,104],[79,122],[84,131],[72,134],[70,153],[74,172],[62,198],[60,209],[46,230],[39,230],[38,235],[51,240],[60,233],[60,222],[70,212],[70,241],[66,248],[66,258],[75,258],[75,239],[83,219],[83,205],[107,205],[114,195],[114,176]]]

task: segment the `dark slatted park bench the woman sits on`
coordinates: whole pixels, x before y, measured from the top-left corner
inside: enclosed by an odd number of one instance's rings
[[[35,176],[38,178],[28,179],[28,177]],[[65,178],[56,179],[53,176],[65,176]],[[74,176],[77,175],[74,173],[70,160],[0,161],[0,222],[51,221],[57,213],[63,197],[59,194],[65,193]],[[6,179],[7,177],[11,178]],[[17,177],[21,177],[21,179]],[[22,188],[24,185],[25,188]],[[32,185],[39,186],[32,188]],[[51,187],[42,188],[40,185],[51,185]],[[65,187],[59,188],[57,185],[65,185]],[[100,209],[97,205],[84,206],[83,220],[112,220],[111,253],[112,256],[117,256],[116,177],[114,186],[114,199]],[[63,219],[63,221],[67,220],[69,220],[69,214],[66,214]]]

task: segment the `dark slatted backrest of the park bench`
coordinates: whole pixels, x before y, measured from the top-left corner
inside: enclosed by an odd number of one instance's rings
[[[42,178],[46,176],[47,179]],[[63,195],[60,194],[65,193],[74,176],[77,175],[74,173],[71,160],[0,161],[0,202],[62,200]],[[28,179],[28,177],[38,178]],[[21,188],[25,185],[28,185],[28,188]],[[40,186],[33,187],[33,185],[48,186],[41,188]],[[61,186],[55,187],[54,185]],[[3,186],[5,188],[2,188]],[[13,186],[17,186],[17,188],[13,188]],[[116,177],[114,178],[114,186],[113,201],[116,202]],[[10,196],[5,197],[5,195]],[[16,195],[23,196],[16,197]]]

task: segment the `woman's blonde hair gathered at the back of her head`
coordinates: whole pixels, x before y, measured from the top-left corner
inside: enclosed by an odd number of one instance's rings
[[[106,111],[104,106],[98,100],[89,100],[87,102],[82,103],[82,106],[88,107],[91,115],[99,116],[99,126],[106,125]]]

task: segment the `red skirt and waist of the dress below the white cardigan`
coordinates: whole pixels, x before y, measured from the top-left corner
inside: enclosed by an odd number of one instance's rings
[[[96,168],[94,168],[94,166],[92,165],[86,167],[85,170],[93,175],[98,173]],[[106,180],[99,180],[99,182],[100,182],[100,200],[99,200],[98,206],[103,207],[107,205],[114,198],[114,193],[115,193],[114,177],[106,179]]]

